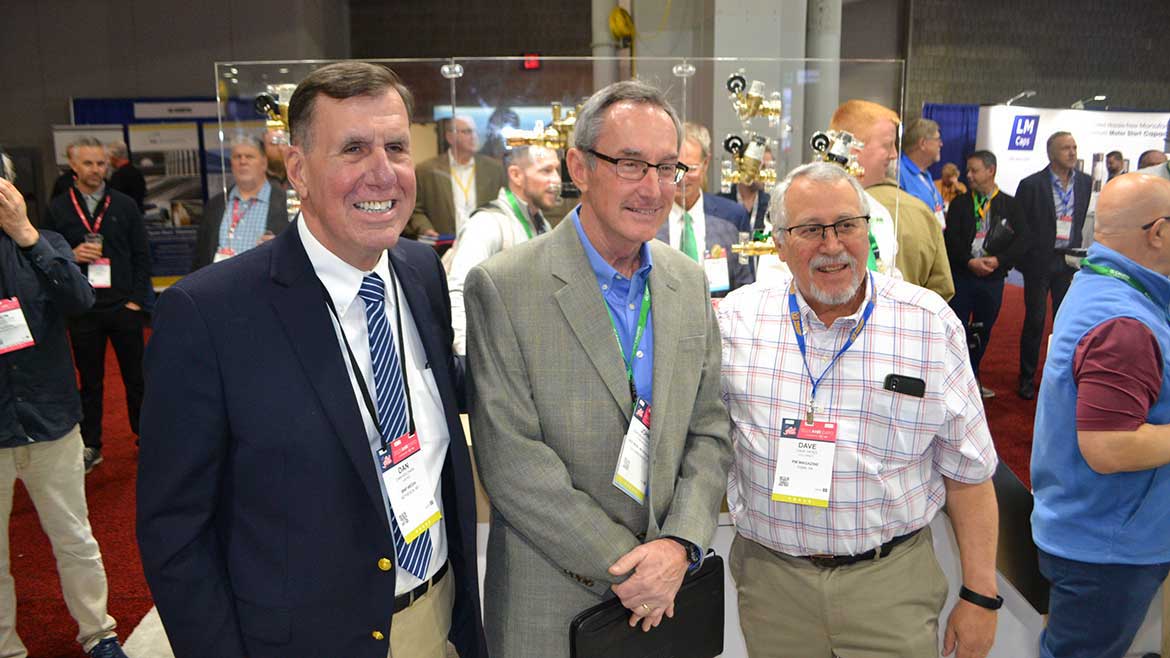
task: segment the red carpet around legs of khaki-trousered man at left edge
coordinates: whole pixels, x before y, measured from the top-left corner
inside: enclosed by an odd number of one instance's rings
[[[135,474],[138,450],[126,418],[125,390],[117,359],[105,358],[105,412],[102,431],[104,461],[85,479],[89,520],[102,547],[110,582],[109,610],[123,640],[150,611],[150,591],[143,577],[135,541]],[[16,631],[28,653],[42,657],[84,656],[76,643],[77,624],[61,598],[53,548],[41,530],[23,486],[16,487],[9,530],[12,573],[16,580]]]

